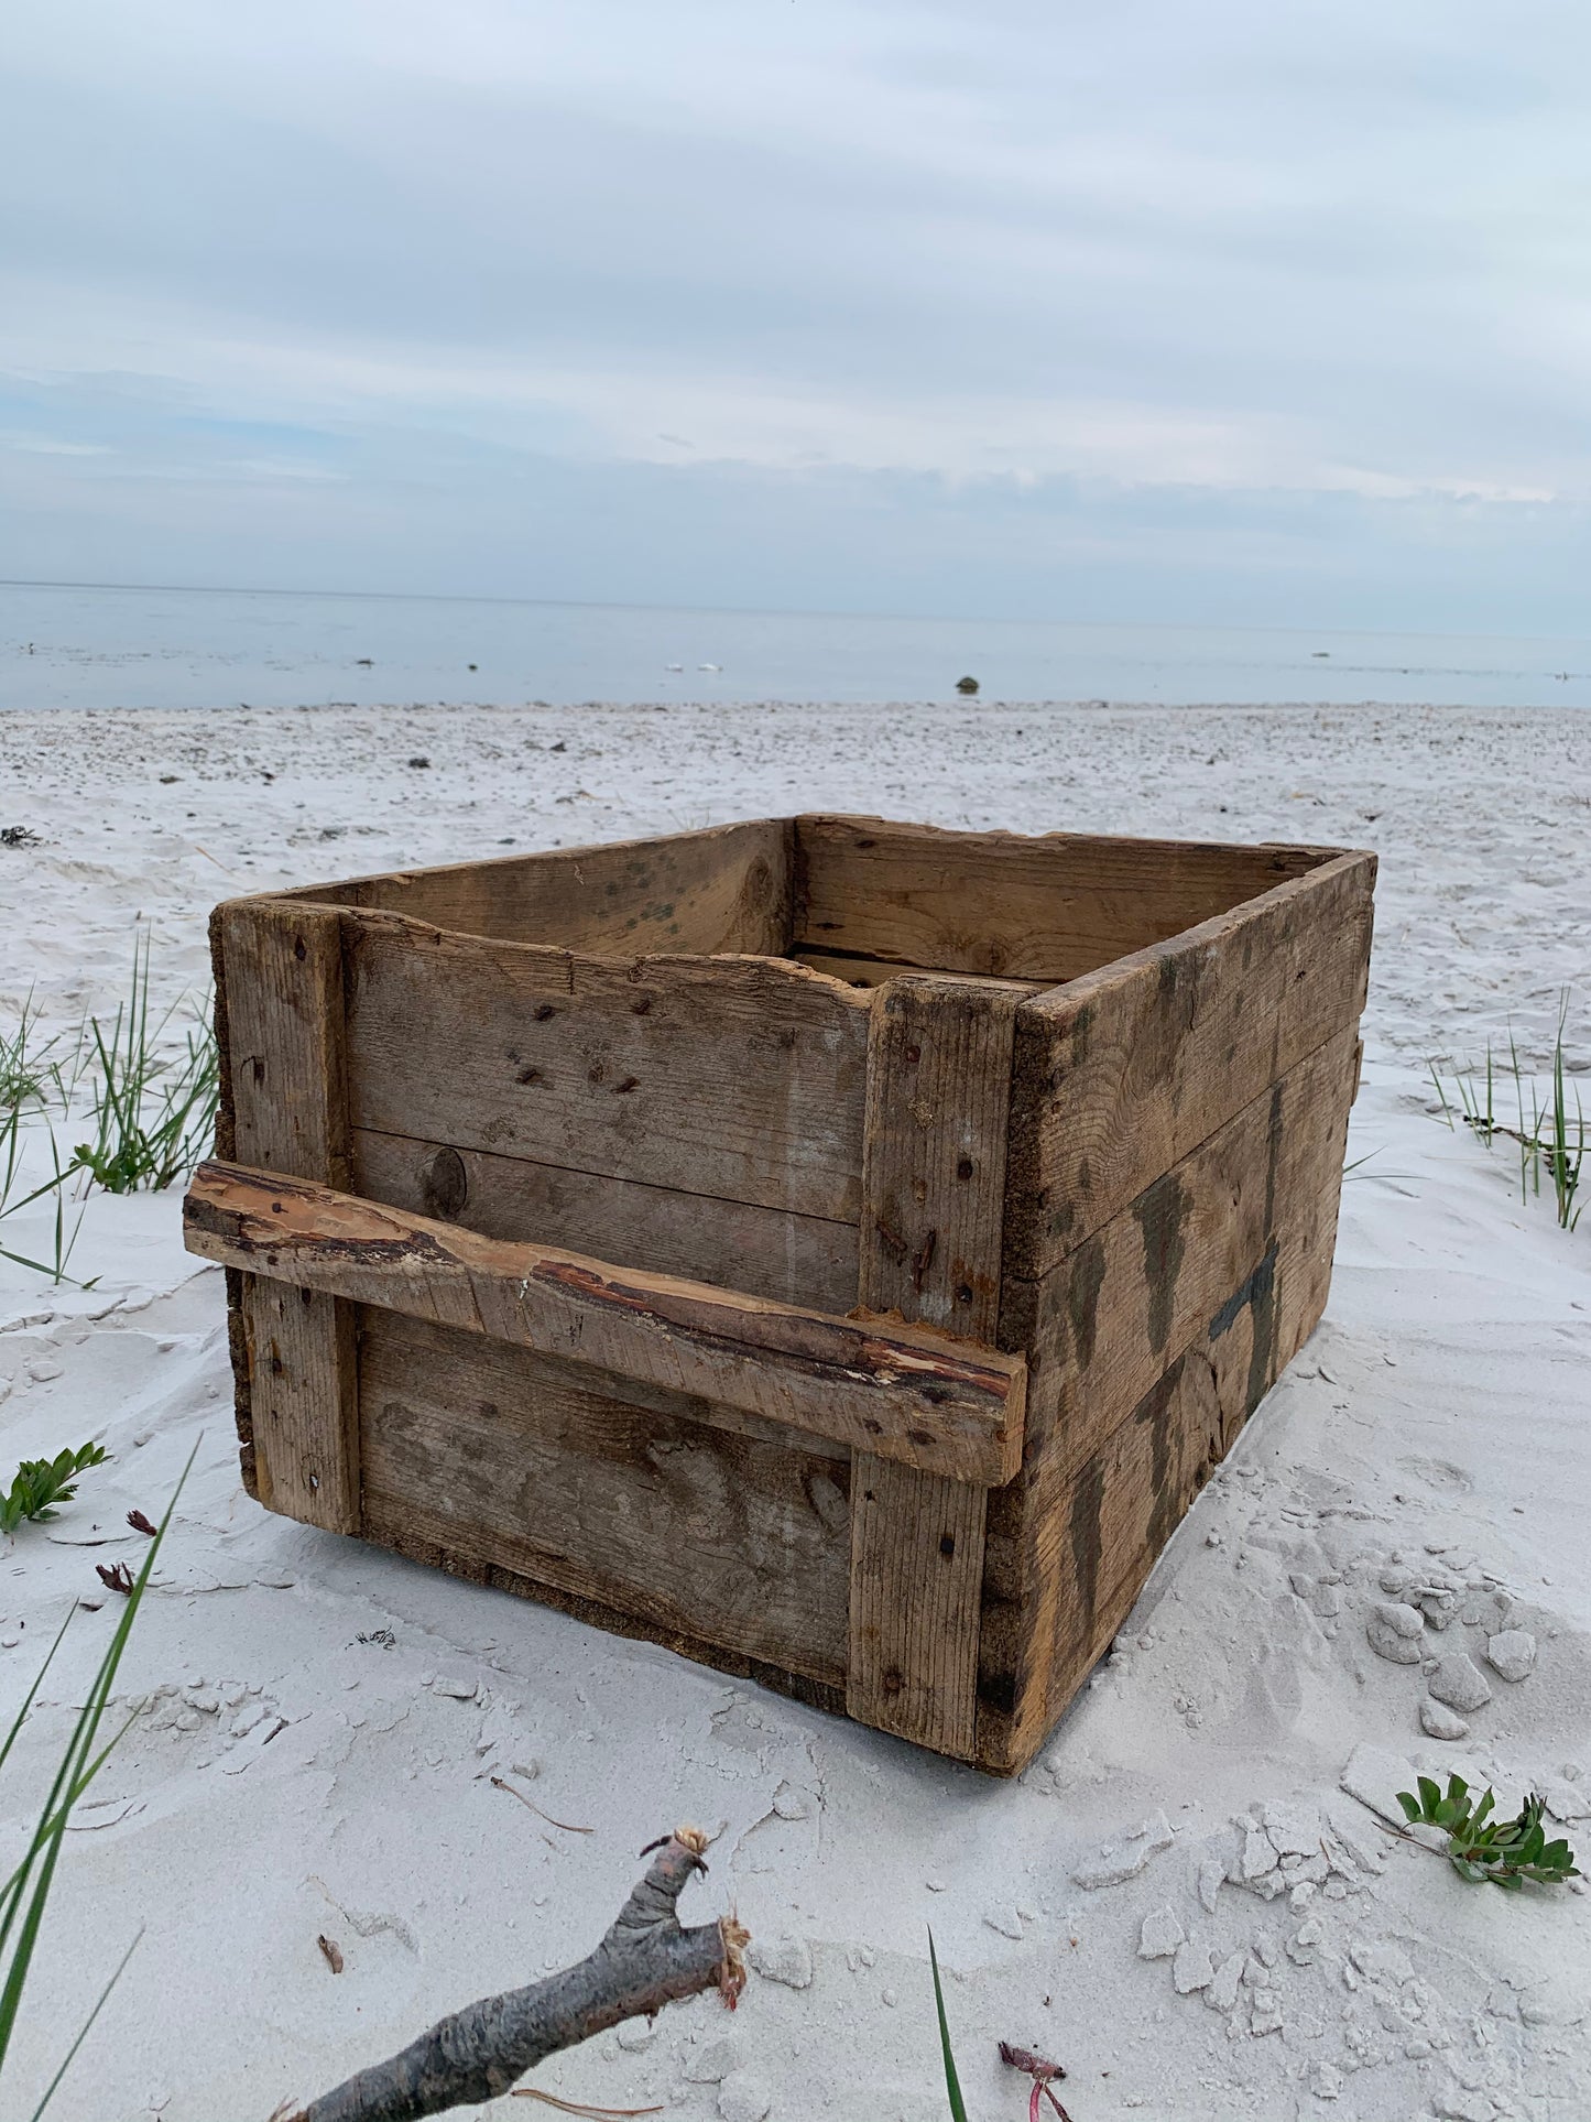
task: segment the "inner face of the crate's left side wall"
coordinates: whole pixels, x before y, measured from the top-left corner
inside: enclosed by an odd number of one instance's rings
[[[634,959],[653,951],[779,957],[789,944],[791,825],[753,819],[658,840],[554,847],[305,885],[293,895],[594,957]]]

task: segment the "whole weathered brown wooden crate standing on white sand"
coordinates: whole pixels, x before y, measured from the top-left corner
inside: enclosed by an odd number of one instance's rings
[[[248,1490],[1020,1770],[1326,1303],[1373,883],[798,817],[227,902]]]

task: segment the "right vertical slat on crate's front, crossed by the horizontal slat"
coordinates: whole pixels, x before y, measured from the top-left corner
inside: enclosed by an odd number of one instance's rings
[[[874,999],[861,1305],[993,1341],[1020,997],[902,980]],[[1014,1471],[1014,1468],[1012,1468]],[[961,1759],[976,1738],[984,1490],[857,1454],[851,1672],[863,1723]]]

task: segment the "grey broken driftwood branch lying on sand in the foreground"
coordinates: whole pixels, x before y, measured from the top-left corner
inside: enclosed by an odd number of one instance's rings
[[[681,1929],[675,1912],[692,1872],[706,1869],[706,1836],[677,1827],[653,1848],[647,1876],[579,1965],[452,2012],[388,2063],[359,2071],[284,2122],[416,2122],[448,2107],[477,2107],[543,2056],[626,2018],[649,2018],[677,1997],[717,1988],[734,2005],[745,1984],[747,1933],[734,1916]]]

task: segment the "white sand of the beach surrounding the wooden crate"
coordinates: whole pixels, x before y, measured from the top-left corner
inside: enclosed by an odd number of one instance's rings
[[[999,2037],[1067,2065],[1073,2122],[1591,2114],[1591,1897],[1464,1886],[1341,1787],[1356,1755],[1370,1797],[1413,1766],[1536,1785],[1591,1857],[1591,1216],[1563,1235],[1521,1207],[1504,1154],[1436,1125],[1421,1086],[1428,1053],[1476,1055],[1508,1016],[1538,1057],[1563,982],[1591,1016],[1591,717],[11,715],[0,789],[0,823],[45,836],[0,849],[0,1006],[34,987],[62,1021],[115,995],[138,915],[174,993],[204,980],[218,895],[507,836],[832,806],[1383,855],[1349,1150],[1375,1156],[1345,1188],[1326,1322],[1016,1785],[267,1517],[238,1483],[221,1277],[182,1256],[176,1197],[91,1201],[89,1294],[0,1263],[6,1466],[87,1434],[115,1454],[0,1555],[0,1708],[91,1564],[136,1560],[123,1513],[155,1515],[204,1439],[123,1668],[129,1698],[165,1693],[68,1838],[34,1978],[47,2024],[6,2114],[30,2111],[17,2094],[138,1925],[51,2114],[263,2118],[583,1952],[679,1819],[721,1829],[687,1908],[734,1897],[772,1980],[734,2020],[696,2001],[605,2037],[545,2067],[552,2090],[728,2122],[938,2118],[931,1923],[978,2122],[1025,2114]],[[1419,1668],[1366,1642],[1383,1572],[1432,1611],[1455,1587],[1428,1634],[1491,1681],[1457,1744],[1421,1732]],[[6,1766],[0,1859],[112,1619],[78,1615]],[[1504,1621],[1538,1645],[1519,1683],[1485,1664]],[[382,1630],[390,1647],[361,1640]],[[496,1791],[513,1763],[594,1833]],[[1141,1956],[1146,1918],[1179,1956]],[[1186,1988],[1211,1963],[1213,2003]]]

